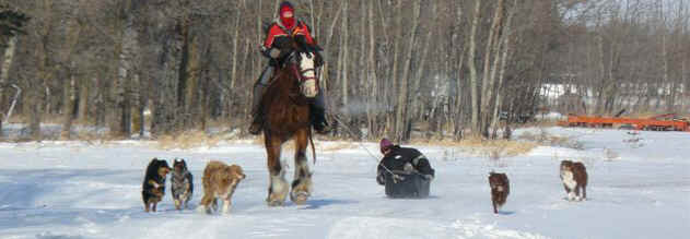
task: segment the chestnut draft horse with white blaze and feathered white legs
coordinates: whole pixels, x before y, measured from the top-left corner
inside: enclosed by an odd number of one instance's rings
[[[285,63],[277,69],[260,105],[268,156],[269,187],[266,202],[269,206],[283,205],[288,195],[285,167],[281,165],[280,153],[282,144],[291,139],[295,142],[295,168],[290,200],[295,204],[304,204],[312,193],[312,172],[305,153],[308,141],[312,141],[309,100],[318,92],[315,55],[294,40],[288,45],[291,46],[291,52]],[[313,141],[312,152],[315,157]]]

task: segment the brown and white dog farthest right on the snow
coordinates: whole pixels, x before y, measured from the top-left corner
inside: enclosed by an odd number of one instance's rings
[[[561,181],[568,193],[568,200],[582,201],[587,199],[587,169],[580,162],[561,162]],[[582,189],[582,195],[580,190]]]

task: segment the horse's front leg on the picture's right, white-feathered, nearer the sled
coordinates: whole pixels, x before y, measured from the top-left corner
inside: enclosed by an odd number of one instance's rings
[[[308,130],[299,130],[295,135],[294,178],[290,200],[296,204],[303,204],[312,194],[312,172],[306,159],[306,145]]]

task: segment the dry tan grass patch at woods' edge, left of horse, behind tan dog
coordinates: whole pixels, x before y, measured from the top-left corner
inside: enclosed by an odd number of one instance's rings
[[[203,131],[184,131],[172,135],[163,135],[157,139],[159,147],[163,150],[171,148],[192,148],[201,146],[217,146],[221,141],[218,136],[210,136]]]

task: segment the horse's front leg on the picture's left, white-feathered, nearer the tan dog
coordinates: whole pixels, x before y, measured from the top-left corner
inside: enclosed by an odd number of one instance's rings
[[[282,142],[278,138],[271,138],[265,133],[266,153],[268,154],[269,186],[266,202],[269,206],[280,206],[285,203],[288,196],[288,182],[285,171],[280,163],[280,150]]]

